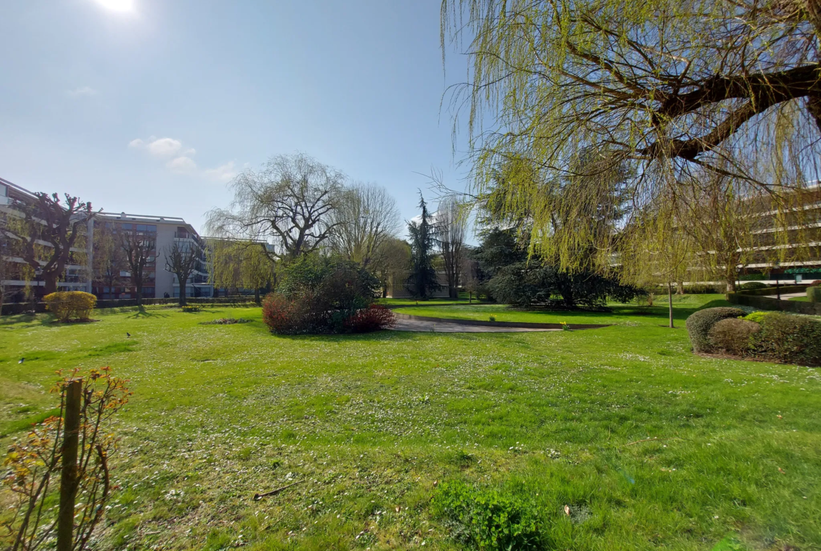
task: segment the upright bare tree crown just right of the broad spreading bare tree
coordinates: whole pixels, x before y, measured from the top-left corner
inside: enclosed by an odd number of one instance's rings
[[[375,184],[357,183],[342,193],[331,223],[331,248],[365,268],[401,229],[396,200]]]

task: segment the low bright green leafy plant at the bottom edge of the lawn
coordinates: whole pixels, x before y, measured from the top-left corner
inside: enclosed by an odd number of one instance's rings
[[[452,536],[476,549],[547,549],[534,515],[521,499],[461,482],[445,482],[433,496],[433,514]]]

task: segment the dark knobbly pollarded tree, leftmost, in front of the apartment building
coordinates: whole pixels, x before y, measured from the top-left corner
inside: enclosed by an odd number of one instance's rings
[[[26,264],[43,278],[44,294],[57,291],[57,281],[66,270],[66,265],[74,259],[80,264],[76,246],[85,246],[86,228],[95,213],[91,203],[77,197],[65,195],[65,202],[54,193],[35,193],[30,202],[16,201],[13,210],[19,213],[16,219],[9,219],[6,232],[16,240],[17,254]]]

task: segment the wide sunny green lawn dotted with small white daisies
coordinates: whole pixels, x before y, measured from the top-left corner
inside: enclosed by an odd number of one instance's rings
[[[680,326],[720,296],[686,298]],[[99,549],[462,549],[430,512],[444,480],[532,503],[548,549],[821,549],[818,371],[694,356],[659,308],[336,337],[255,308],[2,319],[0,434],[55,406],[57,369],[131,379]],[[200,324],[227,315],[252,321]]]

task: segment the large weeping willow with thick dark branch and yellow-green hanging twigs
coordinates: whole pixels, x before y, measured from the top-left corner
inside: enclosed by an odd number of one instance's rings
[[[783,259],[821,158],[816,8],[443,0],[443,52],[470,62],[452,102],[455,131],[468,111],[476,202],[527,220],[531,252],[562,269],[608,271],[666,250],[675,217],[730,179],[737,200],[779,213],[766,262]]]

